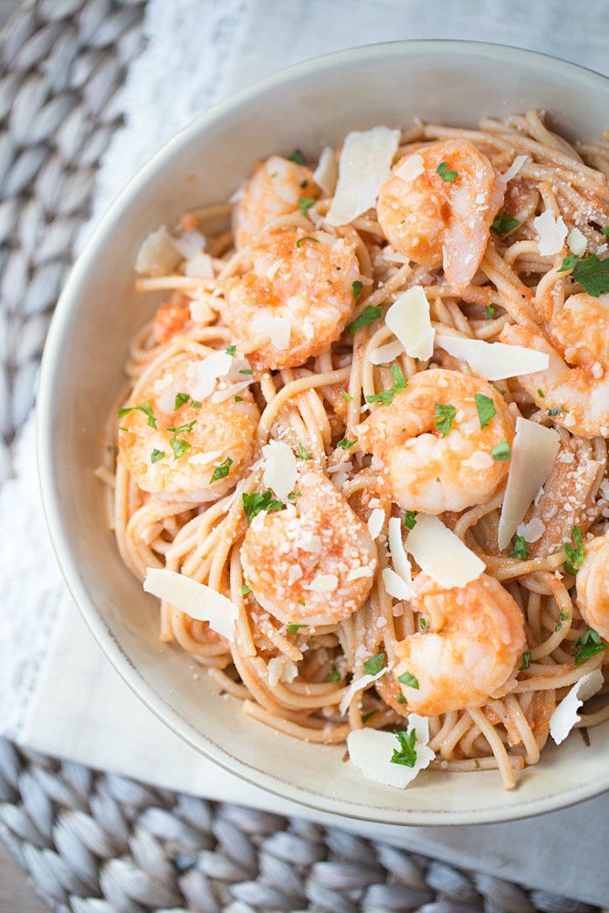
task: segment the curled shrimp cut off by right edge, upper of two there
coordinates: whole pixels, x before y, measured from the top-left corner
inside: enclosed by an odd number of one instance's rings
[[[581,437],[609,436],[609,297],[572,295],[548,324],[554,345],[540,330],[506,324],[500,341],[545,352],[545,371],[518,381],[557,425]]]

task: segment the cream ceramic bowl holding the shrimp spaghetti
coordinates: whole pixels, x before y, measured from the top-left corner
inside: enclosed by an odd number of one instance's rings
[[[121,676],[168,726],[245,780],[325,812],[388,824],[466,824],[548,812],[609,788],[609,725],[549,747],[502,792],[496,771],[428,772],[404,791],[362,779],[344,748],[320,747],[247,719],[193,677],[157,639],[156,601],[123,567],[93,477],[100,426],[122,383],[131,336],[152,310],[133,289],[142,238],[193,205],[224,199],[258,158],[299,146],[315,154],[382,123],[475,125],[482,115],[551,112],[567,138],[607,125],[609,80],[528,51],[466,42],[360,47],[264,79],[217,105],[158,152],[89,241],[58,303],[38,397],[45,510],[68,586]]]

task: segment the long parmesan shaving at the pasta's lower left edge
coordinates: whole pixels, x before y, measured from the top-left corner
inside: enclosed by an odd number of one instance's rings
[[[143,588],[146,593],[158,596],[191,618],[208,622],[210,628],[216,634],[226,637],[226,640],[235,640],[238,615],[236,604],[211,586],[205,586],[205,583],[198,583],[192,577],[176,571],[146,568]]]

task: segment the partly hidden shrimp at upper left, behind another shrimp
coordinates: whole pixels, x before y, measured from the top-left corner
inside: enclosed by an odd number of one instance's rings
[[[271,155],[258,164],[243,188],[235,211],[236,247],[250,244],[273,219],[298,211],[300,198],[315,199],[319,194],[309,168]]]

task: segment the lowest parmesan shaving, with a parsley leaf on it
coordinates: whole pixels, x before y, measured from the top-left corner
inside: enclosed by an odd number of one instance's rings
[[[410,733],[413,729],[416,732],[414,767],[392,763],[394,750],[401,748],[400,742],[393,732],[381,732],[379,729],[352,729],[347,736],[350,761],[367,780],[403,790],[436,757],[428,745],[429,720],[411,713],[406,731]]]

